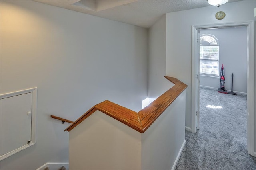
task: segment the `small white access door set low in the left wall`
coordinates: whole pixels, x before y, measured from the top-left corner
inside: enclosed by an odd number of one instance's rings
[[[1,156],[31,140],[32,93],[1,99]]]

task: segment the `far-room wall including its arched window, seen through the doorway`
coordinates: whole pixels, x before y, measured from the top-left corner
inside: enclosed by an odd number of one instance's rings
[[[200,87],[218,90],[224,64],[225,89],[247,92],[247,26],[200,29]],[[198,47],[199,48],[199,47]]]

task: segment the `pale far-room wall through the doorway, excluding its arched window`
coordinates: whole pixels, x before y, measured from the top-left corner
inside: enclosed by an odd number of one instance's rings
[[[246,94],[247,89],[247,27],[202,29],[200,35],[211,34],[219,41],[219,72],[222,64],[225,69],[225,88]],[[220,78],[200,76],[200,86],[220,88]]]

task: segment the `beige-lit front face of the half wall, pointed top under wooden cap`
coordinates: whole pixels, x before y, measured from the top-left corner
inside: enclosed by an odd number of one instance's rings
[[[70,170],[140,170],[141,133],[96,111],[69,138]]]

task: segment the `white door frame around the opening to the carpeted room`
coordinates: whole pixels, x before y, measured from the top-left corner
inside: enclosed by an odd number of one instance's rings
[[[254,152],[254,116],[255,116],[255,21],[246,22],[232,22],[221,24],[208,24],[208,25],[192,25],[192,80],[191,80],[191,131],[195,133],[197,131],[197,116],[196,108],[199,103],[196,93],[199,91],[197,86],[198,72],[198,52],[197,52],[197,35],[198,29],[207,28],[224,28],[235,26],[247,26],[247,151],[250,155],[256,156]],[[199,40],[198,40],[199,41]],[[248,93],[249,92],[249,93]]]

